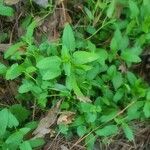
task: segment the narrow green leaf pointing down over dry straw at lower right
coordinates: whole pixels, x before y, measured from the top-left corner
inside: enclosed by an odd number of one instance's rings
[[[132,129],[128,126],[128,124],[123,123],[123,124],[122,124],[122,129],[123,129],[123,131],[124,131],[125,136],[127,137],[127,139],[128,139],[129,141],[133,141],[133,140],[134,140],[133,131],[132,131]]]

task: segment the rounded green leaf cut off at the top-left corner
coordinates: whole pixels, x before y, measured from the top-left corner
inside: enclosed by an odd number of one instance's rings
[[[14,15],[13,8],[0,4],[0,15],[11,17]]]

